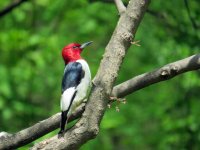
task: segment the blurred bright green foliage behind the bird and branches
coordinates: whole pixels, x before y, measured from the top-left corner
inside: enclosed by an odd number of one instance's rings
[[[0,1],[0,9],[12,2]],[[128,50],[116,84],[199,53],[199,6],[199,0],[152,1],[135,37],[141,46]],[[1,17],[0,131],[14,133],[59,112],[62,48],[94,41],[83,52],[94,77],[118,18],[114,4],[95,0],[32,0]],[[97,138],[81,150],[200,149],[199,77],[186,73],[113,104]]]

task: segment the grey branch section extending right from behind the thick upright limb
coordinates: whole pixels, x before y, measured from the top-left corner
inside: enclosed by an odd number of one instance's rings
[[[200,54],[167,64],[152,72],[138,75],[113,88],[115,97],[124,97],[157,82],[169,80],[179,74],[200,69]]]

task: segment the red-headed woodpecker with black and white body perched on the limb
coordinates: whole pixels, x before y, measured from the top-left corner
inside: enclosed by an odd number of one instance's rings
[[[92,41],[83,44],[71,43],[62,49],[65,68],[61,84],[59,137],[64,135],[65,125],[71,113],[83,102],[91,87],[90,68],[81,57],[83,49],[91,43]]]

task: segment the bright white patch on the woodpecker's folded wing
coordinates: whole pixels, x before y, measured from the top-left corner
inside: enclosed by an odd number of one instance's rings
[[[62,111],[66,111],[69,109],[75,91],[76,91],[75,87],[71,87],[63,92],[60,101],[60,106]]]

